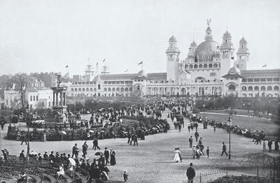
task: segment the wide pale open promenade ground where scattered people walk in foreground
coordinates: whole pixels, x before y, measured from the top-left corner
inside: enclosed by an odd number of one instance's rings
[[[164,112],[163,117],[167,116]],[[170,123],[170,119],[169,123]],[[106,139],[99,140],[99,147],[104,151],[104,147],[113,148],[116,152],[116,166],[108,166],[110,180],[123,181],[123,170],[127,170],[130,182],[182,182],[186,180],[186,169],[190,162],[193,162],[197,175],[200,173],[214,172],[221,166],[231,166],[238,163],[247,152],[261,152],[262,145],[254,145],[251,138],[245,138],[237,134],[231,135],[232,159],[227,156],[221,156],[222,142],[224,141],[228,148],[228,133],[223,129],[216,129],[216,133],[211,126],[208,129],[202,129],[200,124],[198,132],[202,137],[205,147],[209,146],[210,157],[202,156],[202,159],[193,159],[192,149],[189,148],[188,138],[193,136],[195,131],[188,132],[186,128],[189,121],[185,119],[185,128],[181,132],[175,131],[173,124],[170,124],[171,130],[168,133],[159,133],[146,136],[146,140],[139,140],[139,146],[127,145],[127,139]],[[195,139],[195,138],[194,138]],[[57,141],[57,142],[30,142],[31,150],[36,152],[54,151],[71,154],[71,148],[74,143],[78,147],[83,145],[79,141]],[[87,156],[92,161],[94,151],[92,141],[87,144],[90,149]],[[195,144],[195,142],[194,142]],[[20,154],[22,149],[27,149],[26,145],[20,145],[20,142],[13,140],[1,140],[1,148],[5,147],[10,154]],[[180,147],[182,152],[182,163],[174,163],[174,148]],[[81,154],[79,154],[81,156]]]

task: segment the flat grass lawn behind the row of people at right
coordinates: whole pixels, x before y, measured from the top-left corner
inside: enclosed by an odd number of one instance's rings
[[[203,112],[200,112],[200,115],[203,117]],[[207,113],[205,112],[205,117],[208,117],[209,120],[214,119],[218,122],[227,122],[228,114],[223,113]],[[241,126],[246,129],[253,129],[258,131],[265,131],[265,134],[268,138],[276,138],[279,135],[280,125],[274,123],[270,119],[260,118],[260,117],[247,117],[232,115],[232,124]]]

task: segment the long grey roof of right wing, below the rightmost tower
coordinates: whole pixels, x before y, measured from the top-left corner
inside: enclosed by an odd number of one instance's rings
[[[244,78],[256,77],[280,77],[280,68],[275,69],[262,69],[262,70],[244,70],[241,71]]]

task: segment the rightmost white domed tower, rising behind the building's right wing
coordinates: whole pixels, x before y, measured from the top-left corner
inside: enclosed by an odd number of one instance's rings
[[[243,37],[239,41],[239,49],[237,50],[237,67],[240,70],[247,70],[247,61],[250,53],[248,52],[247,41]]]

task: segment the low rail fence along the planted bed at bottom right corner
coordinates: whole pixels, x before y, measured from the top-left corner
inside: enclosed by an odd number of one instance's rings
[[[224,176],[244,177],[244,179],[246,179],[246,177],[255,177],[255,180],[257,180],[257,182],[262,182],[263,179],[265,179],[265,182],[267,183],[280,182],[280,179],[278,177],[275,177],[272,169],[269,170],[267,168],[239,168],[238,170],[221,170],[218,172],[206,174],[199,173],[193,179],[193,183],[211,182]],[[189,183],[189,181],[183,180],[182,183]]]

